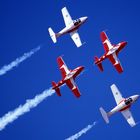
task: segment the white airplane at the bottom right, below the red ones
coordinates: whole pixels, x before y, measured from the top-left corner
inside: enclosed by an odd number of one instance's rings
[[[137,101],[137,99],[140,97],[140,95],[133,95],[128,98],[122,97],[120,91],[118,90],[117,86],[115,84],[111,85],[111,90],[113,93],[113,96],[115,98],[115,101],[117,103],[117,106],[114,107],[110,112],[106,113],[106,111],[100,107],[100,112],[105,120],[105,122],[108,124],[109,123],[109,117],[113,115],[116,112],[121,112],[124,118],[127,120],[129,125],[131,127],[134,127],[136,125],[134,118],[130,112],[130,107],[131,105]]]

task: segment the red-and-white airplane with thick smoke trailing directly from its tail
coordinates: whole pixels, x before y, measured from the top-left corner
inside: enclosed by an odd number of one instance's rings
[[[55,83],[53,81],[52,89],[56,91],[58,96],[61,96],[59,87],[66,84],[71,89],[73,94],[77,98],[79,98],[81,94],[75,83],[75,78],[83,71],[84,67],[79,66],[75,68],[74,70],[69,70],[61,56],[57,58],[57,63],[58,63],[58,66],[62,75],[62,80],[60,80],[58,83]]]

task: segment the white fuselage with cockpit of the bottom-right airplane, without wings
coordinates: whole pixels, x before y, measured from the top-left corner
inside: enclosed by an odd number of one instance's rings
[[[131,104],[133,104],[138,99],[138,97],[139,95],[133,95],[133,96],[130,96],[129,98],[123,99],[116,107],[114,107],[108,113],[108,115],[112,115],[118,111],[123,111],[130,108]]]

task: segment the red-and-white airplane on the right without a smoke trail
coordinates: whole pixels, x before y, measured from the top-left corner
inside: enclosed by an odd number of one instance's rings
[[[118,54],[127,45],[127,42],[122,41],[122,42],[118,43],[117,45],[112,45],[108,39],[108,36],[106,35],[106,33],[104,31],[101,32],[100,37],[101,37],[101,40],[102,40],[102,43],[104,46],[105,54],[103,56],[101,56],[100,58],[95,56],[94,63],[98,66],[100,71],[103,71],[102,61],[105,60],[106,58],[108,58],[111,61],[111,63],[113,64],[113,66],[115,67],[115,69],[118,71],[118,73],[122,73],[123,68],[118,59]]]

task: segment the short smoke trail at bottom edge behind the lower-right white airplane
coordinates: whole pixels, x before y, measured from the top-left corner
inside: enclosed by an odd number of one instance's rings
[[[83,134],[86,134],[87,131],[89,131],[93,126],[95,126],[97,124],[97,122],[95,121],[93,124],[86,126],[85,128],[83,128],[81,131],[79,131],[78,133],[76,133],[75,135],[70,136],[69,138],[65,139],[65,140],[77,140],[79,137],[81,137]]]

